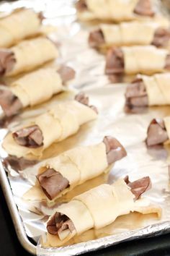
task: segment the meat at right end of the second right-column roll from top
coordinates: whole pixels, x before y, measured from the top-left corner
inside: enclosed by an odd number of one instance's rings
[[[170,30],[166,28],[158,28],[154,34],[152,44],[156,47],[167,46],[170,39]]]

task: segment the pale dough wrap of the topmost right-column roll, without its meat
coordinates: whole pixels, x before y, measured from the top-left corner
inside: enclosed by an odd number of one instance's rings
[[[135,20],[134,13],[138,0],[86,0],[87,10],[79,12],[80,20]]]

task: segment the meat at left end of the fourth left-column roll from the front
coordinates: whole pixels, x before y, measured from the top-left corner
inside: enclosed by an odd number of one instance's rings
[[[0,89],[0,105],[6,116],[14,116],[23,108],[19,98],[7,89]]]

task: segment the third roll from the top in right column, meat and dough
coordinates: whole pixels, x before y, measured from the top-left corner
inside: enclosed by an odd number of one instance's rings
[[[111,48],[107,52],[105,73],[117,79],[124,74],[154,74],[169,69],[169,51],[156,46]]]

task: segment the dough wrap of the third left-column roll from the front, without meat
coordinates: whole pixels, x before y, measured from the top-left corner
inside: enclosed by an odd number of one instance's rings
[[[81,124],[97,118],[96,112],[78,101],[55,103],[44,114],[30,121],[26,127],[37,125],[43,136],[43,146],[40,148],[26,148],[18,145],[10,132],[4,138],[3,147],[10,155],[31,158],[41,157],[43,150],[54,142],[60,142],[76,132]],[[21,129],[22,127],[19,127]],[[23,127],[25,128],[25,127]]]

